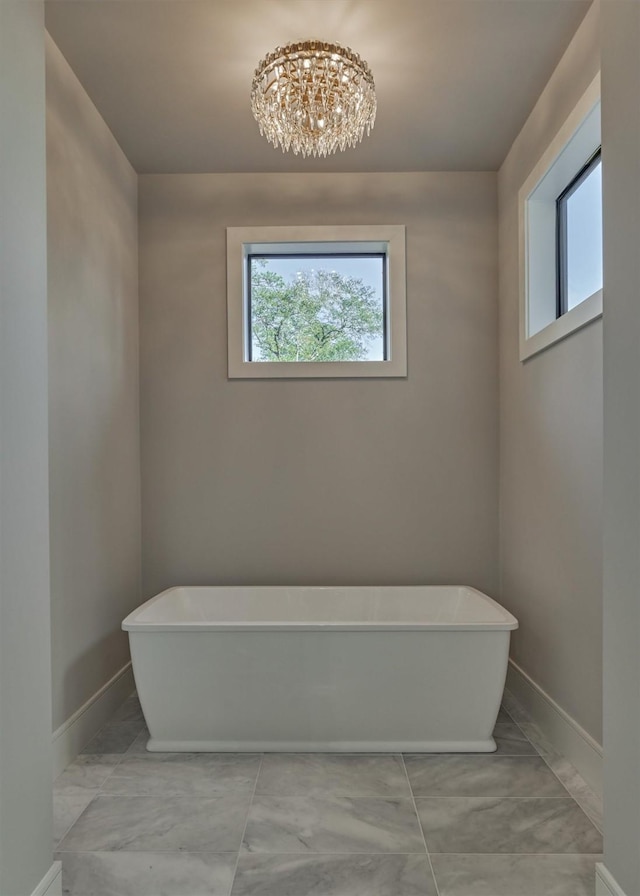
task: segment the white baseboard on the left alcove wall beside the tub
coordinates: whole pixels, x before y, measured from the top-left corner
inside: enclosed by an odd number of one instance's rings
[[[131,662],[109,679],[52,736],[54,779],[82,752],[135,687]]]

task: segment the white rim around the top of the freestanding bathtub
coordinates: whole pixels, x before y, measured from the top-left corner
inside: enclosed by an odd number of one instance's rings
[[[457,622],[389,622],[389,621],[357,621],[357,620],[341,620],[338,622],[330,621],[309,621],[309,620],[293,620],[293,621],[273,621],[273,620],[234,620],[234,621],[216,621],[216,620],[189,620],[189,621],[140,621],[139,616],[149,606],[165,599],[167,595],[174,591],[180,590],[210,590],[212,588],[220,588],[233,591],[234,589],[251,588],[256,591],[282,588],[288,591],[299,588],[300,590],[328,590],[331,588],[340,589],[341,591],[349,590],[365,590],[367,588],[375,588],[377,590],[384,588],[392,591],[394,588],[402,589],[424,589],[424,588],[442,588],[442,589],[464,589],[476,596],[483,603],[489,604],[494,610],[498,610],[502,616],[500,621],[464,621]],[[144,632],[381,632],[381,631],[514,631],[519,627],[518,620],[505,607],[499,604],[489,595],[473,588],[470,585],[174,585],[166,588],[159,594],[154,595],[140,606],[136,607],[122,622],[122,629],[131,633]]]

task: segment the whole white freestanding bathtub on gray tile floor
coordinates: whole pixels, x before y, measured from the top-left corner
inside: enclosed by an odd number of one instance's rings
[[[124,620],[158,751],[491,752],[517,620],[473,588],[171,588]]]

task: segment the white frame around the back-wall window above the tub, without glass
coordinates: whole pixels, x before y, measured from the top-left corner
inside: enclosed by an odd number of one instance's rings
[[[384,253],[387,264],[385,361],[249,361],[247,256],[251,253]],[[403,377],[407,375],[405,227],[227,227],[229,379]]]

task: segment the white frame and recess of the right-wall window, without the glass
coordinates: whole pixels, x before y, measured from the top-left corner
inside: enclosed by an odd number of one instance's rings
[[[556,199],[600,143],[598,74],[518,193],[521,361],[602,316],[600,289],[556,317]]]

